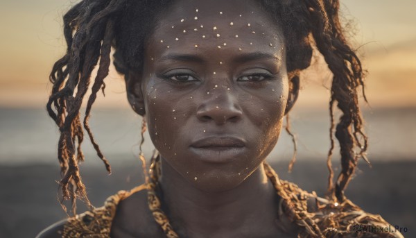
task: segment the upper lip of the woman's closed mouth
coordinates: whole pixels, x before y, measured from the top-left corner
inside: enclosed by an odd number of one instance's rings
[[[245,140],[239,137],[211,136],[197,139],[191,144],[193,148],[240,148],[245,146]]]

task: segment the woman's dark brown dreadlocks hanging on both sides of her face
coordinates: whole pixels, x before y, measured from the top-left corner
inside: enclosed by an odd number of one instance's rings
[[[141,72],[148,35],[157,24],[157,16],[173,1],[83,0],[64,15],[64,37],[67,52],[60,58],[49,76],[53,83],[46,105],[49,116],[60,130],[58,160],[62,187],[61,205],[71,200],[73,213],[76,198],[88,201],[81,180],[78,163],[85,159],[81,144],[87,131],[96,153],[111,173],[110,164],[89,128],[89,116],[96,94],[104,93],[104,79],[110,67],[110,51],[115,49],[114,65],[128,81],[129,71]],[[329,111],[331,117],[331,147],[328,153],[329,196],[344,201],[344,189],[354,174],[359,158],[365,158],[367,137],[363,132],[363,119],[358,108],[358,88],[362,87],[363,69],[354,50],[347,44],[338,17],[338,0],[259,0],[266,12],[281,26],[286,43],[286,59],[291,90],[295,101],[299,92],[300,71],[311,65],[312,46],[324,56],[333,73]],[[80,107],[90,87],[91,74],[98,64],[85,109],[83,124]],[[364,99],[365,94],[362,91]],[[342,115],[335,124],[333,109]],[[137,109],[135,109],[137,111]],[[287,128],[288,129],[288,128]],[[334,132],[335,129],[335,132]],[[288,129],[289,130],[289,129]],[[334,135],[340,144],[342,171],[333,185],[331,155]],[[62,205],[64,207],[64,205]],[[66,208],[64,207],[66,210]]]

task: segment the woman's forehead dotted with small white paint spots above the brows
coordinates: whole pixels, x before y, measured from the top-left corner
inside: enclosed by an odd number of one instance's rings
[[[277,22],[254,1],[180,0],[159,17],[148,48],[153,55],[208,48],[277,52],[282,37]]]

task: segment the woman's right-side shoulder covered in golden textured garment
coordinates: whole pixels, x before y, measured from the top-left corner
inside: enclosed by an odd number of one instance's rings
[[[342,203],[336,203],[317,196],[315,192],[306,192],[291,182],[281,180],[281,185],[287,194],[291,194],[289,206],[296,207],[297,214],[310,218],[324,237],[403,238],[379,214],[365,212],[347,198]],[[285,207],[282,209],[288,210]],[[307,234],[301,232],[300,235],[308,237]]]

